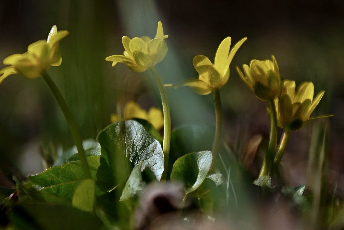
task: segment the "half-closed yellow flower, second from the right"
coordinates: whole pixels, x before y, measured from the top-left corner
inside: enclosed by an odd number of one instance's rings
[[[243,69],[245,75],[236,67],[241,79],[260,100],[271,101],[280,94],[283,84],[275,56],[272,55],[272,61],[252,60]]]

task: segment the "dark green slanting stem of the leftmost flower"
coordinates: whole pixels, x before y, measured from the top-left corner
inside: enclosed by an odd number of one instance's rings
[[[63,112],[64,116],[66,117],[66,120],[67,120],[68,125],[69,125],[69,129],[71,129],[72,136],[73,136],[76,148],[78,150],[78,155],[80,157],[81,167],[83,169],[85,179],[91,179],[91,173],[90,173],[90,170],[88,167],[81,134],[80,134],[80,131],[76,125],[74,116],[73,116],[71,110],[69,109],[66,101],[64,100],[60,90],[57,88],[56,84],[51,79],[49,74],[47,72],[43,72],[42,76],[43,76],[45,82],[48,84],[51,92],[54,94],[57,103],[60,105],[62,112]]]

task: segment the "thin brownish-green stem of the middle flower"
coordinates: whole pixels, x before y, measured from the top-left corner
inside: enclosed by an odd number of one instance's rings
[[[217,152],[221,141],[221,129],[222,129],[222,109],[221,109],[221,98],[219,90],[214,91],[214,104],[215,104],[215,119],[216,119],[216,126],[215,126],[215,139],[213,142],[213,161],[212,165],[209,169],[210,172],[213,171],[215,167],[215,162],[217,158]]]

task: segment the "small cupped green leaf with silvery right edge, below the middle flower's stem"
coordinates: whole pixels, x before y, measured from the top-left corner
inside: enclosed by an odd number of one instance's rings
[[[211,151],[199,151],[178,158],[172,167],[171,180],[182,181],[186,192],[195,191],[205,179],[212,164]]]

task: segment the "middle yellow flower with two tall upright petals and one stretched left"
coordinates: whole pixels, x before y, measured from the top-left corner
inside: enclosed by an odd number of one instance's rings
[[[177,82],[171,86],[178,88],[180,86],[189,86],[192,90],[200,95],[207,95],[227,83],[229,79],[229,65],[232,62],[235,53],[240,46],[246,41],[247,38],[243,38],[238,41],[230,50],[230,43],[232,39],[230,37],[225,38],[217,48],[215,54],[214,64],[203,55],[195,56],[192,63],[198,72],[198,79],[186,79]]]

